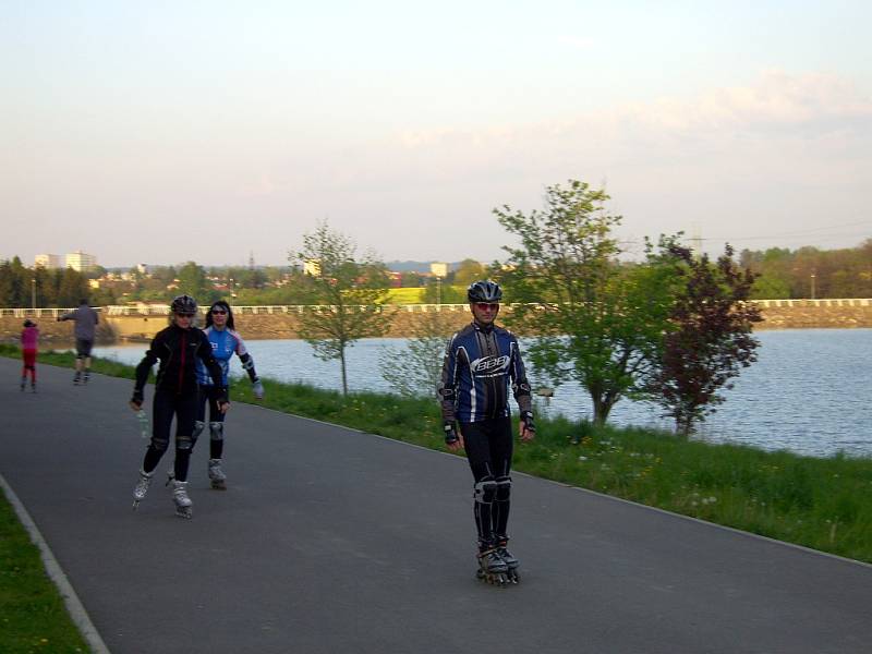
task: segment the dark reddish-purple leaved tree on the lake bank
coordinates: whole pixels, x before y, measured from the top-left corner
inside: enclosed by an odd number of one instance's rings
[[[754,274],[732,261],[732,249],[712,265],[707,255],[694,258],[675,243],[668,253],[683,277],[670,314],[671,329],[645,391],[675,420],[676,431],[690,435],[695,423],[724,401],[720,388],[756,361],[752,336],[760,310],[748,303]]]

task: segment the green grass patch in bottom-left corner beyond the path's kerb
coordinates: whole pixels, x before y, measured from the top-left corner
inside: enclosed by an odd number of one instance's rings
[[[46,574],[39,549],[2,493],[0,650],[4,654],[90,652]]]

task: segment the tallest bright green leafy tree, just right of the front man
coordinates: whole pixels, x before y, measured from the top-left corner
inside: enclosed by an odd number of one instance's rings
[[[512,303],[510,326],[536,335],[530,359],[554,385],[577,380],[591,397],[593,420],[634,389],[667,328],[674,276],[666,266],[621,266],[608,195],[570,180],[548,186],[545,209],[494,209],[520,239],[504,247],[499,274]]]

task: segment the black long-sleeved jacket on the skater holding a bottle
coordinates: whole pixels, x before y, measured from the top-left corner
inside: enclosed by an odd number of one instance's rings
[[[186,395],[197,391],[196,358],[203,360],[211,377],[215,399],[227,401],[227,387],[222,384],[221,366],[211,353],[206,335],[194,327],[182,329],[170,325],[158,331],[148,351],[136,366],[136,392],[142,392],[152,366],[160,360],[157,371],[157,390]]]

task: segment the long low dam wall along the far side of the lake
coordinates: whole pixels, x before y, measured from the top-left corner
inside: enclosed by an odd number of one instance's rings
[[[822,327],[868,327],[872,328],[872,302],[869,300],[770,300],[760,302],[764,322],[758,329],[807,329]],[[509,307],[504,307],[504,312]],[[423,311],[421,306],[387,307],[386,316],[390,316],[389,337],[414,336],[416,329],[433,320],[433,311]],[[439,315],[445,320],[446,329],[455,330],[470,320],[465,307],[444,307]],[[39,325],[43,342],[69,343],[73,340],[73,323],[57,323],[51,316],[34,318]],[[0,316],[0,340],[16,340],[21,334],[21,316]],[[299,338],[299,320],[293,313],[235,315],[237,328],[246,339],[282,339]],[[202,320],[201,320],[202,324]],[[101,315],[98,340],[111,342],[119,340],[150,339],[157,331],[167,326],[167,317],[152,316],[113,316]],[[522,330],[518,330],[523,335]]]

